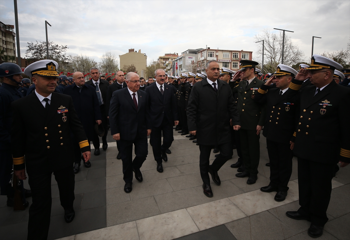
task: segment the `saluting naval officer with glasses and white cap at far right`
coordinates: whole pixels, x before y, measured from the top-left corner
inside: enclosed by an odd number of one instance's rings
[[[334,164],[350,163],[350,89],[336,84],[339,63],[314,54],[309,67],[300,70],[290,88],[297,89],[307,78],[313,86],[300,92],[294,155],[298,157],[299,205],[286,215],[311,222],[308,234],[317,238],[328,221]],[[299,81],[298,81],[299,80]]]

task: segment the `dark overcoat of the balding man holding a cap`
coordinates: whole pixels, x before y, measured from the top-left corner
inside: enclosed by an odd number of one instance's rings
[[[84,84],[79,92],[79,87],[74,83],[65,87],[63,93],[72,97],[74,108],[84,127],[86,137],[92,141],[96,120],[102,120],[95,88]]]

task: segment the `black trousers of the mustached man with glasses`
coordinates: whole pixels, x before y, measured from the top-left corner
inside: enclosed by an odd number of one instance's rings
[[[159,127],[152,127],[151,139],[154,160],[162,163],[162,151],[169,149],[174,141],[173,123],[169,122],[165,115]]]

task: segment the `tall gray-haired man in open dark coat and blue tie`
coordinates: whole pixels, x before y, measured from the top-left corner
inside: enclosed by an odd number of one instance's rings
[[[106,80],[100,79],[100,74],[98,72],[97,67],[92,67],[90,69],[91,74],[91,80],[87,81],[85,84],[91,85],[95,88],[97,99],[100,105],[100,111],[102,116],[102,126],[105,129],[105,134],[102,136],[102,149],[106,150],[108,147],[107,144],[107,113],[105,109],[106,100],[107,100],[107,89],[109,87],[109,82]],[[94,133],[94,137],[92,140],[93,147],[95,148],[94,155],[100,155],[100,138],[98,137],[97,133]]]

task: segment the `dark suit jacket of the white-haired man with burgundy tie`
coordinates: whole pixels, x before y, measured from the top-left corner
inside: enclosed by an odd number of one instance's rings
[[[146,106],[147,93],[137,91],[138,108],[128,88],[113,92],[109,113],[111,135],[120,133],[120,140],[134,140],[136,136],[147,137],[147,129],[152,129],[151,118]]]

